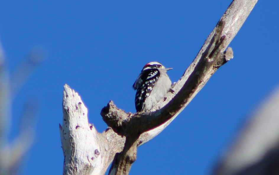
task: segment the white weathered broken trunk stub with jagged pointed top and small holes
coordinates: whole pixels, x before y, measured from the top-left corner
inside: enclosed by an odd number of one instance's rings
[[[64,154],[63,174],[101,174],[102,167],[96,166],[102,161],[98,132],[88,123],[87,108],[80,96],[68,85],[64,85],[62,107],[63,124],[59,124],[59,129]]]

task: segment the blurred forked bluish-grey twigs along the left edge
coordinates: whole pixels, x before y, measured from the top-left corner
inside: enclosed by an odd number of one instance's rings
[[[40,49],[34,49],[17,67],[10,79],[0,43],[0,175],[18,174],[24,160],[23,156],[33,143],[35,118],[39,109],[38,100],[27,99],[21,116],[18,136],[13,138],[10,143],[11,106],[17,92],[43,60],[43,52]]]

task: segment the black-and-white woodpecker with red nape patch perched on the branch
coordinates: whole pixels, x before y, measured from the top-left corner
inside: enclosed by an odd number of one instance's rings
[[[133,85],[137,91],[135,97],[137,112],[150,111],[168,93],[171,89],[171,80],[166,72],[170,69],[172,68],[165,68],[156,61],[145,64]]]

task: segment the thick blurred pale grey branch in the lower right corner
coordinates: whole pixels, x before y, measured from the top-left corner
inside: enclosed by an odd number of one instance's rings
[[[279,88],[244,125],[214,174],[279,174]]]

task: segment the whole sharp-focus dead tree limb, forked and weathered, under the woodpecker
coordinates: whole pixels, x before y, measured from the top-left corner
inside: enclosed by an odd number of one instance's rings
[[[110,174],[128,174],[136,159],[136,147],[148,142],[166,128],[202,89],[213,73],[233,57],[231,48],[227,50],[226,48],[256,2],[257,0],[234,0],[230,4],[192,64],[173,85],[176,95],[168,93],[150,112],[136,114],[125,113],[110,101],[101,111],[103,120],[109,126],[102,134],[95,132],[94,127],[88,125],[87,109],[83,107],[78,94],[65,85],[64,121],[63,126],[60,127],[65,157],[64,174],[104,174],[113,158]],[[69,98],[69,95],[65,94],[74,96]],[[94,132],[90,132],[89,129]],[[82,133],[81,130],[86,132]],[[89,142],[94,146],[89,145]],[[97,159],[96,153],[92,152],[96,149],[97,155],[101,157],[100,160]],[[93,159],[89,160],[88,157],[91,156]]]

